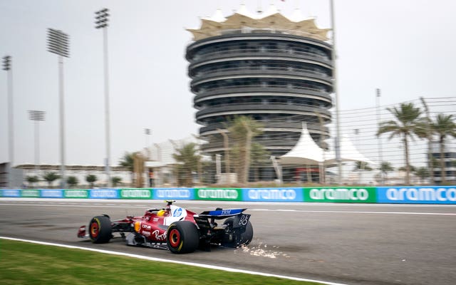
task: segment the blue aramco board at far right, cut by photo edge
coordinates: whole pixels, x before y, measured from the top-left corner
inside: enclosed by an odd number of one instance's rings
[[[379,203],[456,204],[456,186],[378,187]]]

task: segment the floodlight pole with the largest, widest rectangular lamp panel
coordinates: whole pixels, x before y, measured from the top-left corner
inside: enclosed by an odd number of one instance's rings
[[[69,58],[69,37],[63,31],[48,28],[48,51],[58,55],[58,98],[60,105],[60,177],[65,188],[65,101],[63,94],[63,57]]]

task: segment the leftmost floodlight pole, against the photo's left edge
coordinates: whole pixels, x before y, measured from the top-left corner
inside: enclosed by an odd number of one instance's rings
[[[9,156],[9,170],[8,170],[8,187],[13,187],[13,175],[11,170],[13,169],[14,163],[14,116],[13,116],[13,73],[11,71],[11,56],[4,56],[3,58],[3,70],[6,71],[7,75],[7,88],[8,88],[8,156]]]

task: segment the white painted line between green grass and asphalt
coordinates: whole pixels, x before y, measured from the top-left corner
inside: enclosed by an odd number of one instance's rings
[[[33,240],[28,240],[28,239],[15,239],[15,238],[12,238],[12,237],[0,237],[0,239],[9,239],[9,240],[14,240],[14,241],[18,241],[18,242],[31,242],[33,244],[50,245],[50,246],[53,246],[53,247],[65,247],[67,249],[82,249],[82,250],[87,250],[89,252],[100,252],[100,253],[103,253],[103,254],[120,255],[120,256],[123,256],[123,257],[133,257],[133,258],[145,259],[145,260],[149,260],[149,261],[160,261],[160,262],[169,262],[169,263],[174,263],[174,264],[184,264],[184,265],[188,265],[188,266],[197,266],[197,267],[202,267],[202,268],[207,268],[207,269],[216,269],[216,270],[222,270],[222,271],[237,272],[237,273],[244,273],[244,274],[252,274],[252,275],[259,275],[259,276],[266,276],[266,277],[276,277],[276,278],[289,279],[289,280],[295,280],[295,281],[317,282],[317,283],[328,284],[328,285],[346,285],[346,284],[341,284],[341,283],[333,283],[333,282],[319,281],[319,280],[312,280],[312,279],[304,279],[304,278],[291,277],[291,276],[268,274],[268,273],[262,273],[262,272],[257,272],[257,271],[248,271],[248,270],[234,269],[234,268],[223,267],[223,266],[214,266],[214,265],[209,265],[209,264],[199,264],[199,263],[193,263],[193,262],[185,262],[185,261],[177,261],[177,260],[169,260],[169,259],[160,259],[160,258],[156,258],[156,257],[145,257],[143,255],[138,255],[138,254],[127,254],[127,253],[123,253],[123,252],[111,252],[111,251],[103,250],[103,249],[91,249],[91,248],[88,248],[88,247],[75,247],[75,246],[66,245],[66,244],[54,244],[54,243],[50,243],[50,242],[38,242],[38,241],[33,241]]]

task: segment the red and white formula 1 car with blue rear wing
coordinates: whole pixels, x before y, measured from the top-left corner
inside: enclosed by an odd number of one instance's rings
[[[115,221],[107,214],[93,217],[88,232],[82,226],[78,237],[90,237],[93,243],[103,244],[118,232],[128,245],[169,249],[175,254],[194,252],[197,248],[210,251],[212,245],[241,247],[252,241],[254,232],[250,214],[244,214],[246,209],[217,208],[196,214],[173,205],[175,201],[166,202],[165,208],[148,209],[142,217],[128,216]]]

